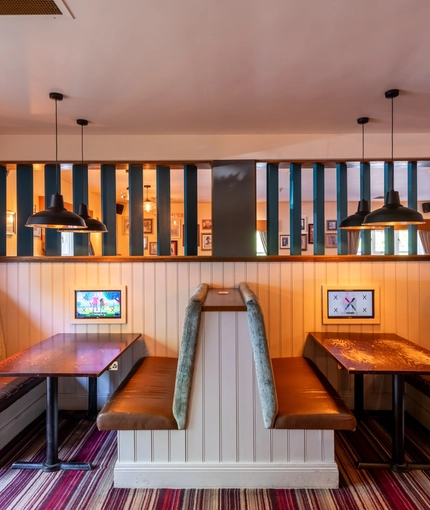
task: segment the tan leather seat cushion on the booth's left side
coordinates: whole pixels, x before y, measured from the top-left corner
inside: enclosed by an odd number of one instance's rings
[[[178,429],[173,416],[176,358],[138,362],[97,417],[99,430]]]

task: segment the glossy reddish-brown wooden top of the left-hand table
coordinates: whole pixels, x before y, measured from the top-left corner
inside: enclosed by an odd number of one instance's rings
[[[140,333],[58,333],[0,362],[0,376],[98,377]]]

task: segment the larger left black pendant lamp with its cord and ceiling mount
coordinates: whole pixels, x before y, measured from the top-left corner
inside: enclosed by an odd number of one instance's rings
[[[58,164],[58,114],[57,102],[63,100],[63,94],[51,92],[49,98],[55,101],[55,167],[57,193],[51,195],[49,207],[44,211],[32,214],[25,224],[32,228],[63,228],[72,230],[77,228],[86,228],[85,221],[77,214],[68,211],[64,207],[63,195],[60,195],[60,165]]]

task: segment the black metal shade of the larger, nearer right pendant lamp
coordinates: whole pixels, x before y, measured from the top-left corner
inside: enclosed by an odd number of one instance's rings
[[[404,207],[400,203],[399,192],[390,190],[385,197],[385,204],[369,213],[363,222],[363,225],[371,227],[391,227],[394,225],[419,225],[424,222],[421,213],[414,209]]]

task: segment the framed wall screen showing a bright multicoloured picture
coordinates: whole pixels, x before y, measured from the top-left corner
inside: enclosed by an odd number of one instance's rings
[[[121,285],[75,287],[70,292],[72,324],[124,324],[126,288]]]

